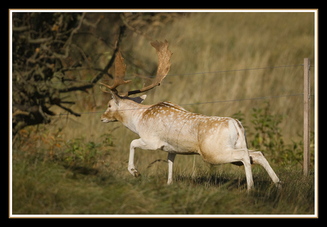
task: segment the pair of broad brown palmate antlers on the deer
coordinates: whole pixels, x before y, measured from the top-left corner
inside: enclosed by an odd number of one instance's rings
[[[150,84],[149,86],[146,86],[139,89],[139,90],[134,90],[134,91],[129,91],[126,92],[124,94],[121,94],[121,96],[129,96],[131,94],[139,94],[141,92],[146,92],[149,91],[150,89],[153,89],[156,86],[159,86],[161,81],[166,77],[166,75],[169,72],[169,69],[171,67],[171,62],[169,62],[169,60],[171,59],[171,51],[168,50],[168,45],[169,43],[167,42],[167,40],[164,41],[164,43],[162,42],[151,42],[151,45],[156,48],[156,53],[158,55],[158,70],[156,72],[156,78],[153,79],[152,84]],[[123,60],[124,58],[122,57],[122,55],[120,54],[120,52],[117,52],[117,56],[116,56],[116,65],[115,65],[115,69],[116,69],[116,75],[115,75],[115,80],[114,80],[114,84],[112,86],[109,86],[107,84],[102,84],[105,87],[109,88],[112,90],[112,92],[114,92],[115,94],[117,94],[117,87],[119,85],[122,84],[127,84],[128,82],[131,82],[131,80],[128,81],[124,81],[124,75],[125,75],[125,67],[126,65],[123,65]],[[100,87],[100,89],[102,89]],[[104,91],[102,89],[102,92],[107,92]]]

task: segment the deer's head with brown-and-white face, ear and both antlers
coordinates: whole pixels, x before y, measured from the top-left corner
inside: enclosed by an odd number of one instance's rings
[[[115,60],[115,75],[114,75],[114,84],[111,86],[108,84],[102,84],[104,87],[107,87],[110,89],[108,92],[105,89],[102,89],[100,86],[100,89],[102,92],[111,93],[112,99],[108,102],[108,108],[102,114],[101,121],[104,123],[112,122],[112,121],[121,121],[124,115],[122,113],[122,109],[131,109],[131,108],[137,108],[138,106],[136,104],[141,104],[144,99],[146,99],[146,94],[142,96],[138,96],[135,98],[129,97],[132,94],[139,94],[142,92],[149,91],[150,89],[153,89],[156,86],[159,86],[161,81],[166,77],[166,75],[169,72],[169,69],[171,67],[171,62],[169,60],[171,59],[171,51],[168,50],[168,42],[167,40],[162,42],[152,42],[151,45],[156,49],[156,53],[158,55],[158,70],[156,72],[156,77],[152,79],[152,83],[148,86],[143,85],[141,89],[125,92],[122,94],[119,94],[117,87],[119,87],[122,84],[127,84],[129,82],[132,82],[132,80],[124,80],[125,77],[125,68],[126,65],[124,65],[124,58],[122,57],[120,51],[117,52],[116,60]]]

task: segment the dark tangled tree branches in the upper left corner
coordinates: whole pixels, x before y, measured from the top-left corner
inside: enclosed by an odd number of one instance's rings
[[[118,45],[112,52],[104,69],[93,65],[89,53],[74,43],[74,35],[89,26],[83,23],[87,13],[14,13],[13,14],[13,133],[16,134],[25,126],[39,123],[50,123],[50,116],[55,115],[49,108],[53,105],[68,111],[74,116],[80,116],[65,104],[75,104],[74,101],[62,101],[60,94],[91,89],[108,74],[114,63],[114,58],[124,33],[120,28]],[[100,23],[97,19],[94,26]],[[86,24],[86,25],[85,25]],[[92,28],[94,27],[92,26]],[[90,33],[90,32],[89,32]],[[99,36],[99,35],[96,35]],[[99,36],[100,37],[100,36]],[[104,40],[104,39],[102,39]],[[97,71],[93,79],[85,85],[75,86],[52,83],[53,78],[61,77],[74,81],[76,70]]]

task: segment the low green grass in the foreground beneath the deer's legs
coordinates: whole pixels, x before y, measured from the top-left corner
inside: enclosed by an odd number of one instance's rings
[[[32,135],[36,138],[38,133]],[[177,156],[174,182],[167,185],[167,163],[149,166],[165,159],[164,152],[137,150],[141,177],[136,179],[127,171],[126,152],[109,148],[107,155],[97,153],[93,162],[75,160],[68,165],[63,142],[55,141],[61,148],[56,145],[51,153],[41,146],[51,140],[48,136],[16,141],[21,146],[13,150],[13,214],[314,213],[313,172],[304,177],[291,165],[273,166],[283,182],[281,190],[267,172],[253,166],[254,189],[247,193],[243,167],[213,167],[195,156],[192,175],[194,156]]]

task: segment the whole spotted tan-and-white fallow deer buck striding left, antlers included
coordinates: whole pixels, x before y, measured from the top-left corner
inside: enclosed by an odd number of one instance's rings
[[[245,130],[237,119],[218,116],[204,116],[186,111],[181,106],[164,101],[154,105],[141,105],[146,95],[136,98],[131,94],[146,92],[159,86],[168,74],[172,53],[168,50],[168,42],[152,42],[159,59],[156,78],[152,84],[139,90],[118,94],[117,87],[127,84],[124,81],[125,67],[123,57],[117,52],[115,60],[114,84],[102,84],[111,91],[112,100],[102,114],[104,123],[120,121],[127,128],[140,136],[133,140],[129,150],[128,170],[138,177],[134,166],[135,148],[146,150],[164,150],[168,153],[168,184],[173,181],[173,160],[179,155],[201,155],[205,162],[213,165],[232,163],[244,165],[247,177],[247,189],[253,187],[251,164],[257,163],[267,170],[272,181],[279,185],[279,178],[270,167],[263,153],[247,148]]]

